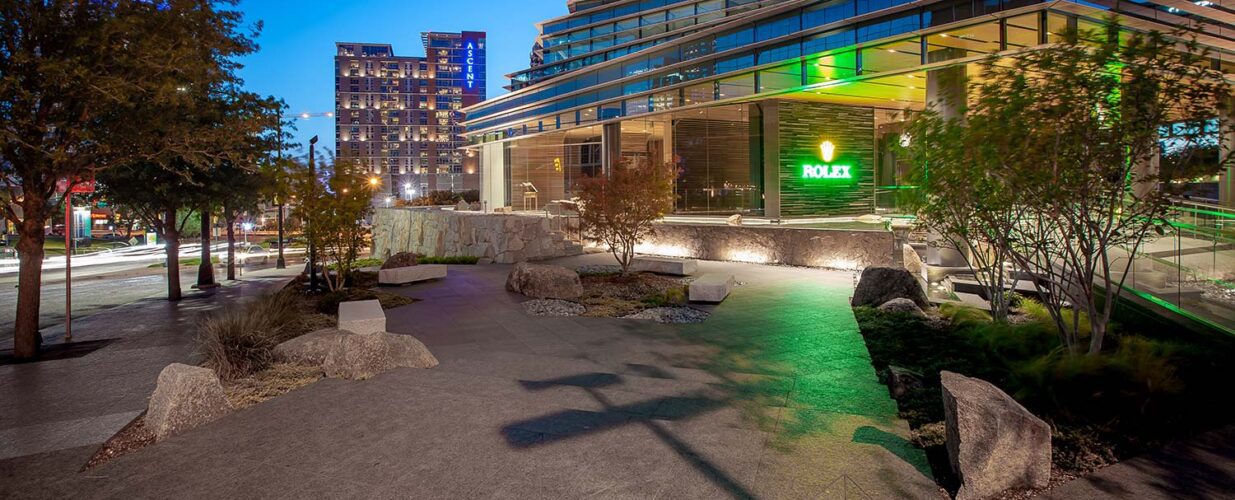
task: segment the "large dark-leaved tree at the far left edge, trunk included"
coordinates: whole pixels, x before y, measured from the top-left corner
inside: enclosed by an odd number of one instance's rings
[[[21,237],[16,358],[38,351],[43,227],[62,202],[57,181],[198,156],[212,133],[144,111],[174,116],[193,99],[182,89],[235,80],[232,58],[256,46],[233,4],[0,1],[0,186],[14,201],[0,210]]]

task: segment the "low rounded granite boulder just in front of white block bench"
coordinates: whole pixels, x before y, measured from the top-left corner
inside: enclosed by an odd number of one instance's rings
[[[362,380],[394,368],[433,368],[437,358],[416,338],[408,335],[372,332],[338,338],[326,358],[326,377]]]

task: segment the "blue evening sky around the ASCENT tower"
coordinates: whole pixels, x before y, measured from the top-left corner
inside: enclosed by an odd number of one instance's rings
[[[567,14],[566,0],[241,0],[246,21],[264,26],[261,51],[242,60],[248,90],[287,101],[289,111],[335,110],[335,42],[389,43],[395,56],[424,56],[422,31],[484,31],[488,98],[503,75],[527,67],[537,21]],[[335,120],[296,120],[295,142],[335,148]]]

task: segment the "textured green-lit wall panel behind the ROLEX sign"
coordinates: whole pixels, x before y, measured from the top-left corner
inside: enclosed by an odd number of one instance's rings
[[[779,101],[781,216],[869,214],[874,186],[874,110],[820,102]],[[821,158],[831,141],[835,156]],[[803,165],[848,165],[848,179],[803,178]]]

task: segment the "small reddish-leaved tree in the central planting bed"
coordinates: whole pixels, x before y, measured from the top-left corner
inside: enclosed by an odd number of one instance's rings
[[[629,162],[608,177],[587,179],[579,193],[579,221],[589,237],[609,247],[622,274],[652,223],[673,209],[673,170]]]

